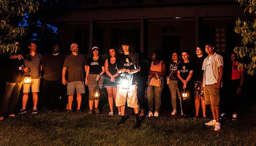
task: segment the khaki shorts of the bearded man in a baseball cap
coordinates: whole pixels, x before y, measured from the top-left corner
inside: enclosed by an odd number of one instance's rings
[[[74,81],[67,83],[67,95],[74,95],[76,93],[83,94],[85,93],[84,82]]]

